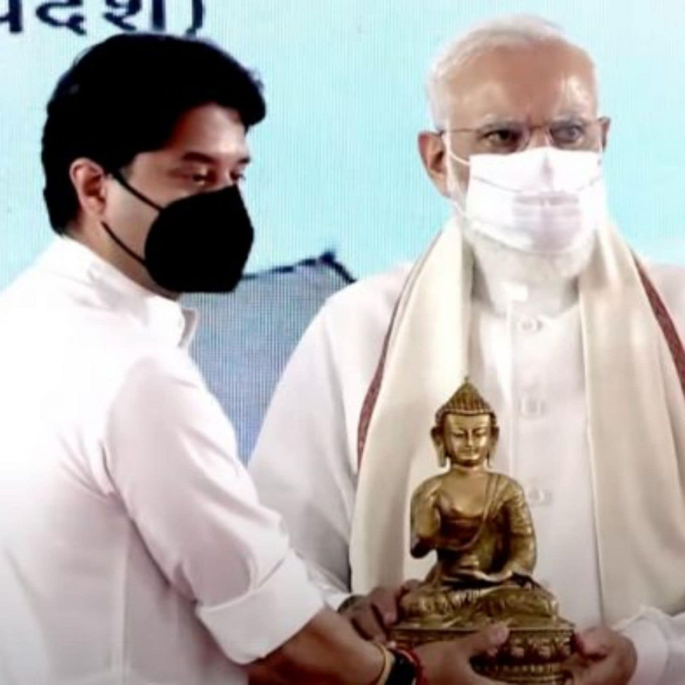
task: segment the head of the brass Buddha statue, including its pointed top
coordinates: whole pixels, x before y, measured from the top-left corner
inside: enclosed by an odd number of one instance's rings
[[[436,412],[431,437],[440,466],[448,460],[466,469],[489,463],[499,437],[497,416],[468,378]]]

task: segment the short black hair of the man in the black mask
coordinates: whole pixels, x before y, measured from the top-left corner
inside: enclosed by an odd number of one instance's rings
[[[164,147],[179,117],[208,103],[236,110],[245,129],[266,114],[256,75],[205,40],[120,34],[77,58],[47,105],[42,134],[43,196],[55,232],[64,233],[79,208],[73,160],[123,169]]]

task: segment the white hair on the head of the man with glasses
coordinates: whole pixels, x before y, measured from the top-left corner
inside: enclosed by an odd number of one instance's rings
[[[580,46],[575,45],[564,36],[564,32],[558,25],[540,16],[530,14],[505,16],[490,20],[477,25],[466,34],[447,43],[438,52],[429,71],[426,84],[433,123],[438,128],[445,123],[445,112],[443,111],[446,99],[443,92],[445,81],[475,55],[499,47],[520,47],[549,42],[562,42],[582,50]],[[590,59],[589,55],[588,59]]]

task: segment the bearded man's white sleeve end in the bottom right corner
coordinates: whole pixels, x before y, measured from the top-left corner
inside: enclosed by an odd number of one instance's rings
[[[635,645],[638,664],[630,685],[683,685],[685,614],[648,608],[617,626]]]

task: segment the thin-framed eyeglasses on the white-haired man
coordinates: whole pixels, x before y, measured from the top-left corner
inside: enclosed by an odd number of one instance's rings
[[[519,121],[503,121],[486,124],[479,128],[441,129],[438,134],[456,133],[473,135],[472,153],[507,155],[525,149],[536,129],[542,129],[553,147],[563,150],[596,149],[601,139],[601,129],[608,117],[597,119],[556,119],[530,126]]]

